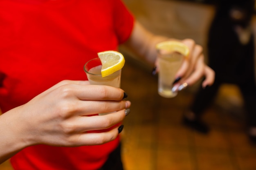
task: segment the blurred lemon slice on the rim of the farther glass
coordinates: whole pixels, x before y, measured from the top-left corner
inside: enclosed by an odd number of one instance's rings
[[[157,50],[165,50],[168,52],[178,52],[184,55],[185,57],[189,56],[189,47],[183,44],[182,42],[177,41],[164,41],[156,45]]]

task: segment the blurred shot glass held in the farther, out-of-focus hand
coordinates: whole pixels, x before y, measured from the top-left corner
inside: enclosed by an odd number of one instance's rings
[[[158,58],[158,94],[165,98],[172,98],[177,91],[172,91],[175,74],[184,60],[184,55],[166,49],[157,49]]]

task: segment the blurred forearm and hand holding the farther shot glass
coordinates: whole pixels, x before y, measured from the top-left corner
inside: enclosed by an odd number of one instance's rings
[[[189,47],[190,55],[185,60],[180,70],[177,72],[173,91],[195,84],[199,79],[205,77],[202,87],[211,86],[214,82],[215,72],[204,63],[202,46],[195,43],[192,39],[177,40],[166,36],[155,35],[146,30],[139,22],[135,22],[130,38],[124,47],[142,57],[150,64],[155,64],[153,73],[158,72],[156,44],[163,41],[179,41]]]

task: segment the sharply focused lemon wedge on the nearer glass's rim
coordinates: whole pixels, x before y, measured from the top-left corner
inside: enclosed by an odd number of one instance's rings
[[[124,66],[124,56],[117,51],[102,51],[98,53],[101,60],[101,75],[106,77]]]

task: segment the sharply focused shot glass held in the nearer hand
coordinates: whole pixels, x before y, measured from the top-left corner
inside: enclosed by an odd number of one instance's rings
[[[83,67],[90,84],[107,85],[120,88],[121,69],[108,75],[101,76],[101,60],[99,57],[89,60]]]

